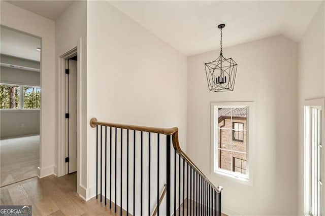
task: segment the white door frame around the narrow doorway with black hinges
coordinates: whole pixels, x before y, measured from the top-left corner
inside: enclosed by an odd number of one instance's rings
[[[65,110],[65,82],[66,82],[66,60],[78,55],[77,63],[77,193],[79,194],[79,178],[80,178],[80,64],[81,58],[78,47],[59,56],[58,59],[58,176],[66,175],[66,110]]]

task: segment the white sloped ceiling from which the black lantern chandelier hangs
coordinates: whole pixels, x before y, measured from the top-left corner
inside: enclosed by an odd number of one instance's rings
[[[114,7],[189,56],[283,34],[299,42],[321,1],[111,1]]]

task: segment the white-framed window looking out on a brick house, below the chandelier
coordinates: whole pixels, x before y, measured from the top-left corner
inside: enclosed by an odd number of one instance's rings
[[[252,185],[252,102],[211,103],[213,173]]]

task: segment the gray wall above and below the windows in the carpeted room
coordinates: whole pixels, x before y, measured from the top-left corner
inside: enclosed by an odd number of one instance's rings
[[[35,61],[1,55],[1,62],[20,66],[34,65]],[[5,62],[3,61],[5,60]],[[39,62],[38,62],[39,64]],[[0,83],[40,86],[40,73],[36,71],[0,67]],[[39,110],[6,110],[0,111],[0,138],[25,136],[40,133]]]

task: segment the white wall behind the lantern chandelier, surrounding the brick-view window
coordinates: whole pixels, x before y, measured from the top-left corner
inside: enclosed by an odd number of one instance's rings
[[[295,215],[297,212],[297,44],[283,36],[226,47],[238,63],[233,92],[208,90],[204,63],[219,51],[188,57],[187,152],[210,173],[210,102],[253,101],[253,186],[207,176],[222,191],[225,213]]]

